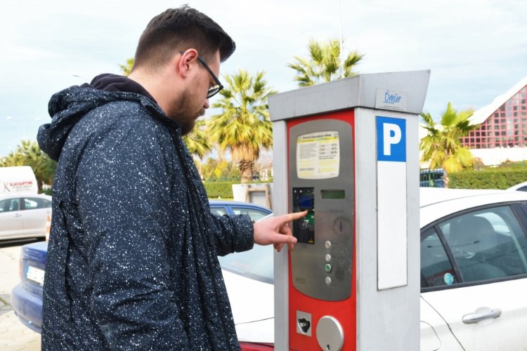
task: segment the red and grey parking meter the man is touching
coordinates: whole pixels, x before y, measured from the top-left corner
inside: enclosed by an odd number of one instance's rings
[[[269,98],[276,350],[419,350],[419,147],[429,71],[361,74]]]

